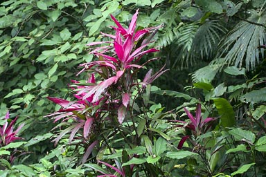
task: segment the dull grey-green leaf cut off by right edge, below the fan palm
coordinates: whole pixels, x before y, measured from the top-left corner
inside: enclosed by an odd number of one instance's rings
[[[266,88],[260,88],[258,90],[246,93],[245,95],[242,95],[239,100],[242,102],[252,102],[253,104],[258,102],[266,102],[266,96],[262,95],[266,95]]]

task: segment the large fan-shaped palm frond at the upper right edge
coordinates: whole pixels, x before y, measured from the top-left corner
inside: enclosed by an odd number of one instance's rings
[[[256,12],[250,10],[251,17],[247,20],[254,22],[241,21],[236,25],[220,46],[220,57],[224,56],[222,64],[234,64],[241,67],[245,63],[247,70],[254,68],[263,57],[264,49],[258,46],[265,44],[265,28],[256,24],[266,24],[266,12]]]

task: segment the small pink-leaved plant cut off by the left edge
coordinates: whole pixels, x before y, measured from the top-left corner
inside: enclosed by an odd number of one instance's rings
[[[1,136],[0,145],[1,146],[6,146],[10,142],[23,139],[23,138],[17,137],[17,133],[19,133],[19,130],[24,126],[24,123],[20,124],[17,130],[14,131],[14,124],[17,121],[17,118],[18,117],[16,117],[14,120],[10,122],[10,124],[8,124],[9,111],[6,113],[6,116],[4,118],[5,123],[3,124],[2,127],[0,127],[0,136]]]

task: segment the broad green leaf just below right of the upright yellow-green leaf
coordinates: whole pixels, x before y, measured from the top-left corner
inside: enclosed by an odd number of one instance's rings
[[[248,140],[251,143],[255,142],[256,136],[251,131],[243,130],[240,128],[231,128],[229,133],[236,138],[236,140]]]

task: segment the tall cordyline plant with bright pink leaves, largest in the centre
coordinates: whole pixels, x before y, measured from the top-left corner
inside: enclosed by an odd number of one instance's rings
[[[82,162],[87,160],[89,153],[96,145],[107,144],[100,143],[103,141],[101,135],[104,130],[112,129],[110,133],[115,134],[119,126],[123,122],[127,122],[127,118],[132,118],[136,97],[139,97],[148,84],[166,71],[161,68],[160,71],[152,75],[152,69],[150,69],[142,81],[137,77],[136,73],[145,64],[155,59],[150,59],[139,65],[141,57],[147,53],[159,51],[155,48],[145,48],[151,43],[157,29],[161,27],[136,30],[137,15],[138,10],[133,15],[128,28],[124,28],[111,15],[117,26],[112,27],[115,35],[103,32],[102,35],[112,41],[96,41],[88,44],[91,47],[100,45],[90,52],[98,58],[98,61],[80,64],[82,67],[80,73],[87,71],[88,76],[86,83],[72,81],[71,88],[76,91],[74,94],[76,101],[48,97],[49,100],[62,106],[59,111],[48,116],[53,115],[55,121],[62,118],[71,120],[60,124],[71,122],[71,125],[55,138],[55,143],[67,133],[70,133],[69,142],[73,138],[86,142],[88,146]],[[133,92],[134,94],[132,94]],[[80,131],[82,133],[78,133]],[[84,144],[82,143],[82,145]]]

